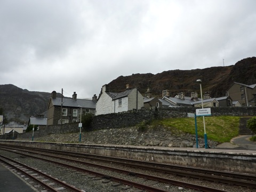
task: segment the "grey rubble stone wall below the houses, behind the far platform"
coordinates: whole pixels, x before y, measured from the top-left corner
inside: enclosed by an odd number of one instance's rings
[[[152,119],[186,117],[187,113],[195,113],[196,108],[168,108],[162,110],[140,110],[128,113],[107,114],[94,116],[90,129],[82,129],[83,143],[135,145],[135,146],[163,146],[163,147],[193,147],[196,138],[193,134],[185,134],[171,127],[150,128],[140,131],[135,125]],[[256,108],[211,108],[212,115],[256,116]],[[79,127],[77,123],[62,126],[40,127],[34,132],[34,141],[78,142]],[[18,135],[19,140],[31,140],[32,132]],[[203,147],[203,138],[198,139]],[[218,143],[209,141],[214,147]]]

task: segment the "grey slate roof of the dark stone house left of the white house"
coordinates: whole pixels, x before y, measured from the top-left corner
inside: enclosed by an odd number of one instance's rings
[[[96,104],[92,100],[87,99],[72,99],[72,98],[63,98],[62,106],[64,107],[82,107],[82,108],[91,108],[95,109]],[[61,106],[61,98],[52,99],[54,106]]]

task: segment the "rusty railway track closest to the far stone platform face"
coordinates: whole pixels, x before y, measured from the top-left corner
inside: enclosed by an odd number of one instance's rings
[[[24,147],[22,147],[24,148]],[[25,147],[27,149],[27,147]],[[82,153],[75,153],[75,152],[70,152],[70,151],[59,151],[59,150],[45,150],[45,149],[39,149],[40,151],[46,151],[47,153],[51,152],[54,154],[60,154],[60,155],[67,155],[71,154],[73,157],[83,157],[83,158],[88,158],[85,157],[88,154],[82,154]],[[79,155],[77,155],[79,154]],[[99,155],[91,155],[90,156],[97,156]],[[131,160],[131,159],[123,159],[123,158],[114,158],[114,157],[103,157],[100,156],[101,158],[91,158],[91,159],[98,159],[99,161],[109,161],[109,162],[115,162],[117,164],[121,165],[129,165],[131,167],[137,167],[137,168],[143,168],[143,169],[154,169],[154,171],[159,171],[159,172],[165,172],[169,174],[175,174],[175,175],[181,175],[183,177],[190,177],[190,178],[198,178],[198,179],[204,179],[204,180],[209,180],[209,181],[214,181],[214,182],[222,182],[222,183],[231,183],[233,185],[238,185],[238,186],[244,186],[244,187],[249,187],[249,188],[256,188],[256,183],[253,182],[246,182],[245,179],[247,180],[255,180],[256,181],[256,175],[250,175],[250,174],[239,174],[239,173],[229,173],[229,172],[221,172],[221,171],[214,171],[214,170],[207,170],[207,169],[198,169],[195,167],[184,167],[184,166],[178,166],[178,165],[168,165],[168,164],[159,164],[159,163],[152,163],[152,162],[141,162],[141,161],[136,161],[136,160]],[[104,159],[103,159],[104,158]],[[110,159],[110,160],[106,160]],[[115,159],[115,160],[113,160]],[[122,160],[121,161],[116,161],[116,159]],[[124,163],[125,162],[130,162],[130,163]],[[134,164],[136,163],[136,164]],[[146,165],[141,165],[141,164],[146,164]],[[149,167],[150,165],[150,167]],[[157,167],[163,167],[163,168],[157,168]],[[149,169],[150,168],[150,169]],[[181,172],[181,170],[184,170],[186,172]],[[195,173],[197,172],[197,173]],[[199,174],[202,173],[202,174]],[[233,178],[233,179],[228,179],[228,178],[220,178],[217,175]],[[242,179],[237,180],[237,179]]]

